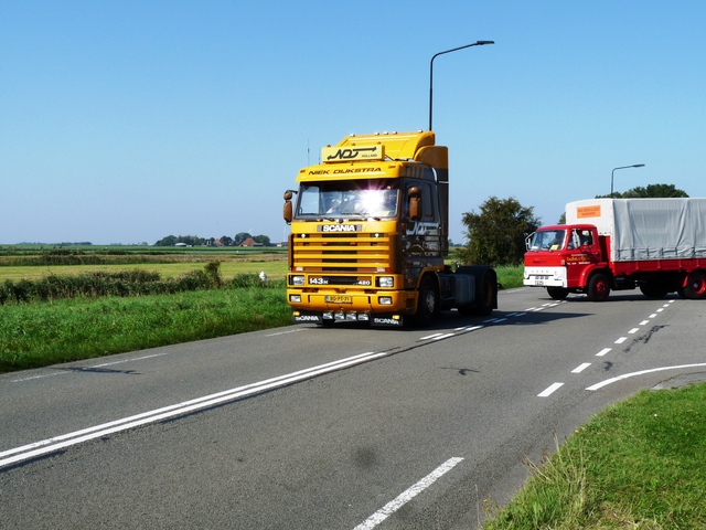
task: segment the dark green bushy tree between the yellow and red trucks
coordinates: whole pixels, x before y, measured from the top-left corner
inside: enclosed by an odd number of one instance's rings
[[[513,198],[491,197],[480,210],[463,214],[468,243],[458,253],[461,261],[493,266],[521,264],[525,237],[541,223],[534,216],[534,206],[525,208]]]

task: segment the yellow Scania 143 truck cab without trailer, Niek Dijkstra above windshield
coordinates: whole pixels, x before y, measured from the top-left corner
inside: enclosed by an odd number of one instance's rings
[[[489,315],[498,277],[452,271],[448,148],[432,131],[350,136],[285,192],[293,322],[426,326],[440,311]]]

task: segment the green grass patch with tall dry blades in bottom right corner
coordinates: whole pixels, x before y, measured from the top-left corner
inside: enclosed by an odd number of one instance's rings
[[[642,391],[593,416],[483,526],[706,528],[706,384]]]

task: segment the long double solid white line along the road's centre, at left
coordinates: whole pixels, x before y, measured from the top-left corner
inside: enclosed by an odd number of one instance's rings
[[[21,447],[14,447],[12,449],[0,452],[0,467],[18,462],[34,458],[36,456],[44,455],[46,453],[53,453],[57,449],[76,445],[89,439],[106,436],[108,434],[126,431],[128,428],[145,425],[147,423],[158,422],[169,417],[185,414],[188,412],[206,409],[220,403],[233,401],[236,399],[245,398],[248,395],[257,394],[266,390],[272,390],[280,386],[287,386],[299,381],[312,379],[318,375],[322,375],[329,372],[350,368],[355,364],[362,364],[364,362],[379,359],[389,356],[389,352],[367,352],[359,356],[349,357],[339,361],[320,364],[318,367],[307,368],[297,372],[288,373],[286,375],[279,375],[277,378],[268,379],[257,383],[246,384],[235,389],[217,392],[215,394],[205,395],[203,398],[196,398],[194,400],[185,401],[174,405],[164,406],[162,409],[156,409],[153,411],[143,412],[133,416],[124,417],[113,422],[104,423],[101,425],[95,425],[93,427],[83,428],[73,433],[63,434],[61,436],[54,436],[52,438],[42,439],[32,444],[23,445]]]

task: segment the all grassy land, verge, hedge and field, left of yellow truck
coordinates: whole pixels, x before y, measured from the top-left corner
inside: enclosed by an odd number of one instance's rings
[[[282,252],[0,252],[0,372],[286,326],[285,271]]]

